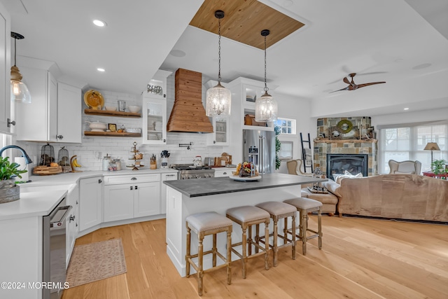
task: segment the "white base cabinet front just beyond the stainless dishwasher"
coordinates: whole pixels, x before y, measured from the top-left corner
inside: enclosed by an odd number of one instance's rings
[[[78,236],[79,231],[79,186],[78,184],[73,184],[68,190],[66,197],[66,204],[71,206],[72,209],[67,219],[68,225],[66,229],[66,267],[69,266],[69,261],[71,257],[71,252],[75,246],[75,240]]]

